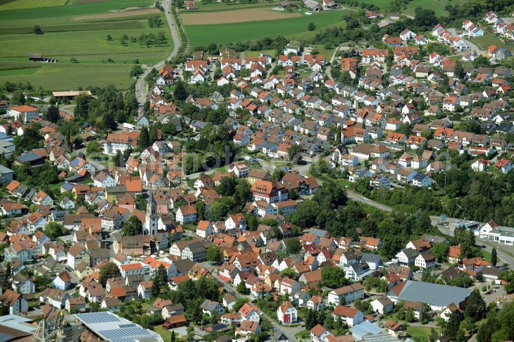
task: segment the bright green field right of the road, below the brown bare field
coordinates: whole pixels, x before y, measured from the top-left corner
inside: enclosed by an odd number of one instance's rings
[[[287,38],[306,39],[316,34],[316,31],[308,31],[308,23],[315,23],[317,30],[331,26],[344,27],[345,23],[341,20],[341,15],[346,12],[346,10],[335,10],[325,13],[314,13],[312,15],[302,14],[299,17],[281,20],[265,20],[265,16],[262,16],[263,20],[260,21],[212,25],[185,25],[185,28],[191,46],[193,47],[210,43],[224,44],[251,41],[263,37],[274,38],[279,34]],[[218,14],[220,13],[223,12],[218,12]]]

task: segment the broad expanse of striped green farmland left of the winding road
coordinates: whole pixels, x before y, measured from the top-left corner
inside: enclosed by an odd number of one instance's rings
[[[160,12],[143,9],[146,12],[141,15],[140,9],[120,11],[152,4],[153,0],[89,1],[71,6],[1,11],[0,84],[28,81],[49,91],[108,84],[128,87],[133,62],[151,66],[167,58],[173,48],[166,19]],[[117,16],[112,17],[113,14]],[[147,18],[155,15],[161,15],[163,25],[150,28]],[[40,25],[43,34],[33,34],[33,25]],[[130,41],[131,37],[137,39],[142,33],[159,31],[165,32],[167,45],[141,47]],[[124,46],[120,43],[123,34],[129,38]],[[107,41],[107,35],[113,40]],[[28,62],[31,52],[59,62]],[[71,58],[79,63],[71,63]],[[109,59],[111,61],[107,61]]]

